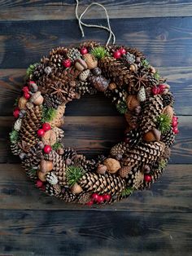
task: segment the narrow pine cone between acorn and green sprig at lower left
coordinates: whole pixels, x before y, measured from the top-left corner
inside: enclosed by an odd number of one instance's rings
[[[62,156],[60,156],[57,152],[52,151],[49,154],[45,155],[45,159],[47,161],[53,162],[53,170],[55,171],[55,175],[59,181],[59,185],[66,185],[66,171],[65,171],[65,161]]]

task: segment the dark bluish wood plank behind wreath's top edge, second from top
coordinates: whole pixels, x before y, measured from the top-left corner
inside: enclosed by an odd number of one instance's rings
[[[186,67],[192,66],[191,23],[191,17],[114,19],[111,28],[117,43],[141,49],[154,66]],[[2,68],[26,68],[55,46],[82,41],[76,20],[2,21],[0,27]],[[84,40],[106,38],[103,30],[85,29]]]

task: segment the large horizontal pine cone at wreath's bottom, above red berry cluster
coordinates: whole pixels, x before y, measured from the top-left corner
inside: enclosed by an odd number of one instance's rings
[[[125,181],[116,175],[85,173],[79,181],[81,188],[86,192],[108,193],[111,196],[124,190]]]

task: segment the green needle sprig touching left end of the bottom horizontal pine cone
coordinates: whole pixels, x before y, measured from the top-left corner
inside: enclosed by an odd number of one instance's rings
[[[66,178],[68,180],[68,185],[72,187],[75,183],[78,182],[79,179],[82,178],[83,174],[85,174],[85,170],[83,170],[79,166],[68,166],[66,169]]]

